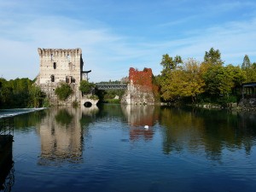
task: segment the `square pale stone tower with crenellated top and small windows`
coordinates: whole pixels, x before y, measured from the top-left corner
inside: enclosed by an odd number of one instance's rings
[[[61,84],[70,84],[73,95],[67,100],[67,104],[80,101],[79,83],[83,77],[84,62],[82,49],[40,49],[40,73],[37,84],[49,97],[50,102],[56,103],[55,88]],[[60,103],[59,103],[60,104]]]

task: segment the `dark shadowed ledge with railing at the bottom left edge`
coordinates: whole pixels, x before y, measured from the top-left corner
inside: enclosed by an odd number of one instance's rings
[[[0,119],[0,191],[11,191],[15,184],[13,161],[14,119]]]

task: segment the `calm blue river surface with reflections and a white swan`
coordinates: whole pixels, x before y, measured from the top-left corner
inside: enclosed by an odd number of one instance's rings
[[[12,192],[253,192],[256,114],[120,105],[45,109],[15,117],[13,160]]]

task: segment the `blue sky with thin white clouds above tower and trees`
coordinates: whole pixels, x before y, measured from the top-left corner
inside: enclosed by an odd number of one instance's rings
[[[82,49],[90,82],[129,68],[160,74],[162,55],[256,61],[255,0],[0,0],[0,77],[34,79],[38,48]]]

